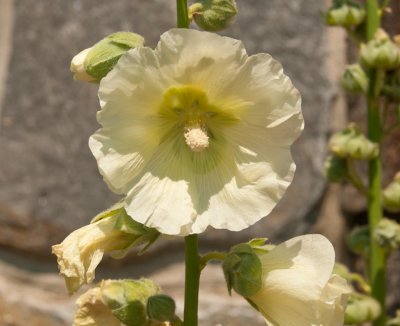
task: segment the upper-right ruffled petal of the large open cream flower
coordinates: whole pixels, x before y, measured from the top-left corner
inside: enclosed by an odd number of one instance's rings
[[[243,121],[249,127],[268,128],[270,139],[291,144],[304,127],[300,94],[280,63],[268,54],[247,59],[220,97],[229,94],[248,103]]]

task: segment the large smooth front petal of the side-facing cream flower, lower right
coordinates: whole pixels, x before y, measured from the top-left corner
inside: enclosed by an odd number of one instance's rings
[[[334,265],[321,235],[290,239],[260,256],[264,286],[249,299],[274,326],[320,325],[319,302]]]

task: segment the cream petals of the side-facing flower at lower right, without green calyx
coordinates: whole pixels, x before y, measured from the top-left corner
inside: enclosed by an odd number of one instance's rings
[[[342,326],[346,281],[332,275],[335,252],[325,237],[290,239],[260,254],[262,287],[247,297],[272,326]]]

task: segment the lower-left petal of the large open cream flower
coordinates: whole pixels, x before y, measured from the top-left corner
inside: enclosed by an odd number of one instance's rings
[[[183,134],[181,137],[184,142]],[[163,234],[191,233],[188,225],[196,216],[180,152],[174,142],[160,145],[125,199],[129,215]]]

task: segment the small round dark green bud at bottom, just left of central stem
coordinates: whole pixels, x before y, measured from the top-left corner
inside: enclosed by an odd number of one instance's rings
[[[165,294],[153,295],[147,300],[147,315],[150,319],[165,322],[175,318],[175,301]]]

